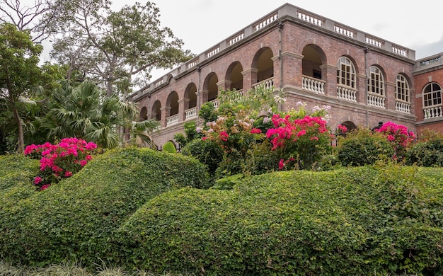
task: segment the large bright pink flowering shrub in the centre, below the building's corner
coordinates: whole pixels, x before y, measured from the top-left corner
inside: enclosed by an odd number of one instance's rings
[[[292,120],[289,114],[273,115],[272,122],[275,128],[267,130],[266,137],[270,139],[272,150],[280,151],[280,170],[294,166],[310,169],[332,150],[326,120],[321,117],[306,115]]]

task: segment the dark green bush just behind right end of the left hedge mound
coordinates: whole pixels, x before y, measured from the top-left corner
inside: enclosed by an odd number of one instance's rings
[[[223,149],[214,141],[195,139],[182,149],[182,153],[183,155],[195,157],[195,159],[206,166],[207,171],[212,176],[214,176],[219,163],[223,160]]]

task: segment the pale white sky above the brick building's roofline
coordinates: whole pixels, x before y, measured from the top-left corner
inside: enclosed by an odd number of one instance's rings
[[[115,9],[137,0],[113,0]],[[138,0],[139,2],[143,2]],[[161,25],[200,54],[289,3],[415,50],[416,59],[443,52],[442,0],[152,0]],[[169,70],[168,70],[169,71]],[[167,71],[154,71],[151,81]]]

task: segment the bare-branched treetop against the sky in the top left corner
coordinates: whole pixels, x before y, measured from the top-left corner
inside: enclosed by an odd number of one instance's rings
[[[46,26],[57,13],[57,1],[34,0],[33,3],[18,0],[0,0],[0,23],[11,23],[18,30],[30,30],[33,42],[47,38]]]

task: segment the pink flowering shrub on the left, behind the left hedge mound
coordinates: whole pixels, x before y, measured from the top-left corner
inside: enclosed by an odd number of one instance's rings
[[[64,138],[59,144],[32,144],[25,149],[25,155],[42,156],[40,174],[34,178],[38,190],[45,190],[63,178],[69,178],[86,166],[92,159],[97,145],[83,139]]]

